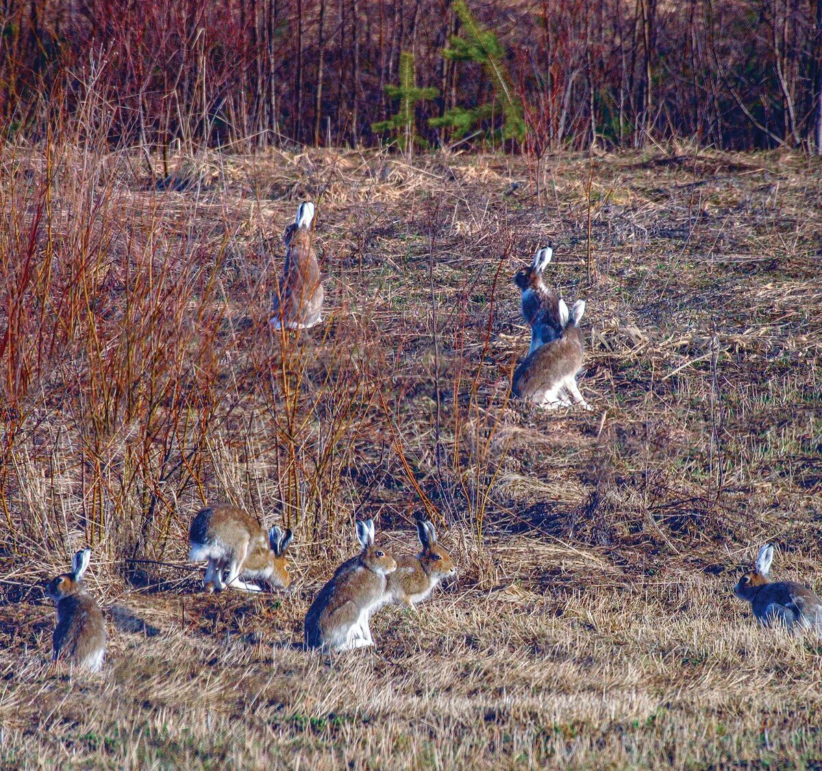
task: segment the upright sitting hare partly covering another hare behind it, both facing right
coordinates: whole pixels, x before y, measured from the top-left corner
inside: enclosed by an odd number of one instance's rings
[[[345,561],[317,594],[305,621],[306,648],[351,650],[374,644],[369,617],[386,603],[386,576],[397,563],[374,546],[374,523],[357,523],[363,552]]]

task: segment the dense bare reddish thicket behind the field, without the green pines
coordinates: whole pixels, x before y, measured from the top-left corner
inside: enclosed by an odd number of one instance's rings
[[[505,47],[526,149],[673,136],[822,146],[822,0],[469,7]],[[440,93],[418,104],[418,131],[453,141],[427,118],[493,90],[481,66],[443,56],[461,27],[450,0],[3,0],[0,117],[37,137],[93,87],[114,142],[368,145],[382,138],[372,123],[395,112],[384,86],[411,51],[417,84]]]

